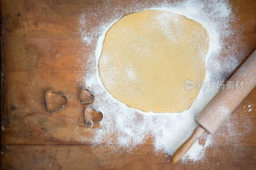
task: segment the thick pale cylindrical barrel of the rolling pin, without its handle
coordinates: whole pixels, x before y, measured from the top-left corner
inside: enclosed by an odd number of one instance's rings
[[[214,133],[255,85],[256,50],[196,116],[196,122],[207,132]]]

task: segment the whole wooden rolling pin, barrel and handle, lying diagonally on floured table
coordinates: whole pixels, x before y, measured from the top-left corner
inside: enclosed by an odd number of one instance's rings
[[[177,163],[205,131],[210,134],[214,133],[255,87],[256,50],[228,81],[229,83],[234,82],[234,84],[240,82],[243,87],[228,89],[227,82],[224,88],[220,89],[199,115],[196,116],[195,120],[199,125],[194,129],[192,135],[173,153],[172,164]]]

